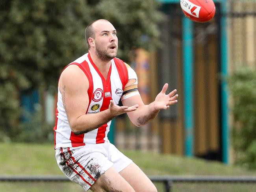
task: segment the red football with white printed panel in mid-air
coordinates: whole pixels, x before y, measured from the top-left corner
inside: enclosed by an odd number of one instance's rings
[[[210,21],[215,14],[213,0],[180,0],[180,6],[185,16],[196,22]]]

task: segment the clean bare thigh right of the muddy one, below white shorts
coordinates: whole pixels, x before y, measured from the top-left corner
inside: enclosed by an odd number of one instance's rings
[[[136,192],[157,192],[154,184],[134,162],[124,168],[119,174]]]

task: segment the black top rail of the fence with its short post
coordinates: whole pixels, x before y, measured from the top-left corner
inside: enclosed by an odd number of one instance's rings
[[[148,176],[152,182],[164,184],[165,192],[171,192],[173,183],[255,183],[254,176]],[[0,176],[0,182],[68,182],[64,176]]]

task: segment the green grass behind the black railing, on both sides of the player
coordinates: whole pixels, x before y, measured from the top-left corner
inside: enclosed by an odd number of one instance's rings
[[[122,151],[148,175],[256,175],[221,162],[176,155]],[[0,175],[62,175],[52,144],[0,143]]]

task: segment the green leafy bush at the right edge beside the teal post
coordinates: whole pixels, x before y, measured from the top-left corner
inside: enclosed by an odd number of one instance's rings
[[[242,69],[229,78],[234,98],[233,144],[236,162],[256,169],[256,70]]]

